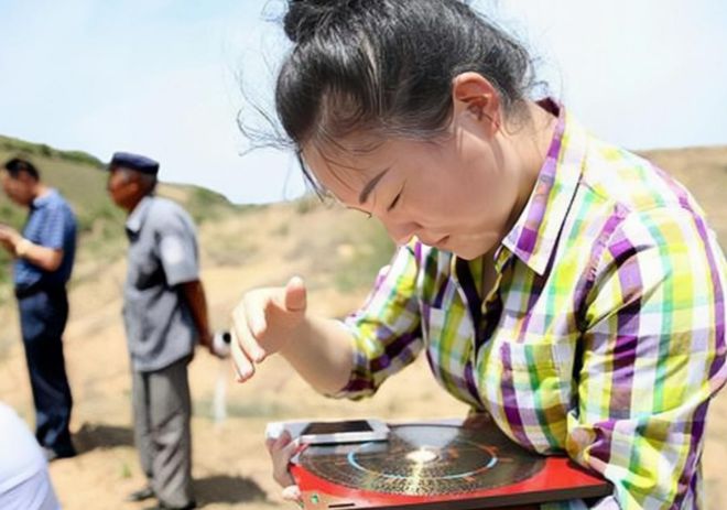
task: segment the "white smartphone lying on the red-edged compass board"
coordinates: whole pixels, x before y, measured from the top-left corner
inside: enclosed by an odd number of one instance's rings
[[[283,431],[303,444],[343,444],[387,441],[389,426],[381,420],[338,420],[272,422],[265,427],[265,437],[278,438]]]

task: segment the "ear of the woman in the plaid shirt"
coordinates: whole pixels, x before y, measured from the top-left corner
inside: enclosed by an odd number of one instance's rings
[[[466,116],[477,122],[488,135],[502,124],[500,95],[495,86],[475,72],[462,73],[452,80],[454,116]]]

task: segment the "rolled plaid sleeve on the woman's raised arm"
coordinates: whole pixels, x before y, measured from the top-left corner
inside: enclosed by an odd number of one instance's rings
[[[384,267],[365,305],[347,317],[352,334],[354,370],[348,384],[332,397],[370,397],[391,375],[422,350],[413,243],[400,248]]]

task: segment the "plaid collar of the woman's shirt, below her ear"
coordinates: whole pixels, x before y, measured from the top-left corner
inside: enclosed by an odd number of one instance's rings
[[[549,101],[560,109],[553,140],[528,204],[496,253],[498,269],[509,258],[507,248],[538,274],[545,272],[580,180],[586,133],[562,105]]]

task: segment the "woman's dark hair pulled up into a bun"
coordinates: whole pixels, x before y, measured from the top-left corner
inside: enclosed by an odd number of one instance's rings
[[[354,130],[431,139],[452,116],[452,82],[485,76],[507,115],[533,85],[524,47],[458,0],[289,0],[295,44],[275,105],[300,145]]]

